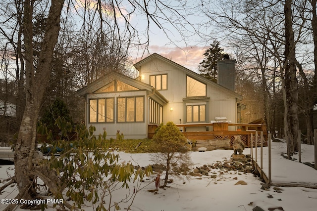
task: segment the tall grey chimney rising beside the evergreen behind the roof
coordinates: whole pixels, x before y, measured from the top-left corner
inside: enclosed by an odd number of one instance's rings
[[[236,60],[227,59],[217,62],[218,68],[218,84],[235,91],[236,82]]]

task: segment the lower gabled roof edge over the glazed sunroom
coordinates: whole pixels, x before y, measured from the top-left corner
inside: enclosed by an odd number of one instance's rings
[[[79,89],[77,91],[77,93],[79,95],[82,95],[82,96],[84,96],[86,94],[93,93],[93,92],[97,91],[98,89],[104,87],[106,84],[111,83],[114,80],[124,82],[125,84],[129,84],[129,85],[134,86],[140,90],[151,91],[153,94],[155,94],[157,97],[159,97],[159,99],[162,100],[162,102],[164,102],[164,103],[168,102],[168,100],[163,95],[161,95],[159,93],[159,91],[157,91],[153,86],[151,86],[149,84],[145,84],[145,83],[140,82],[140,81],[137,81],[135,79],[132,79],[128,76],[122,75],[122,74],[117,73],[117,72],[110,72],[110,73],[106,74],[105,76],[97,79],[93,83],[88,84],[87,86]]]

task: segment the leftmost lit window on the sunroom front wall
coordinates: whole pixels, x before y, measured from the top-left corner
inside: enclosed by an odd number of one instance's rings
[[[89,100],[89,122],[113,122],[113,98]]]

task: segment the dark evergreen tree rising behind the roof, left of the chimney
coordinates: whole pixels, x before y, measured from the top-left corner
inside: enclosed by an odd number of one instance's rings
[[[227,54],[223,52],[223,48],[219,47],[220,42],[213,41],[211,43],[211,47],[208,48],[205,53],[204,60],[199,63],[199,72],[200,75],[204,76],[205,78],[217,83],[217,61],[222,60],[223,57]]]

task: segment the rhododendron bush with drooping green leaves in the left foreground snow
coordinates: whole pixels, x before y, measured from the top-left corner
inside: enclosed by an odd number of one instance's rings
[[[63,134],[72,130],[62,127],[69,124],[60,117],[57,118],[56,125]],[[42,128],[42,131],[47,130]],[[42,165],[48,166],[51,172],[55,172],[54,177],[58,177],[58,181],[53,183],[57,186],[55,192],[52,192],[53,196],[60,199],[66,190],[66,196],[73,203],[70,205],[72,209],[80,210],[83,209],[81,206],[84,199],[92,202],[97,211],[119,210],[122,202],[132,204],[134,197],[142,189],[143,177],[152,173],[151,166],[143,170],[135,169],[131,162],[119,163],[119,156],[108,151],[112,139],[106,139],[106,131],[95,136],[96,128],[86,128],[84,124],[77,125],[75,131],[77,139],[71,144],[67,139],[54,142],[53,148],[63,149],[58,157],[53,155],[51,159],[43,160]],[[128,195],[122,196],[121,201],[113,202],[109,195],[120,186],[129,189],[128,182],[134,183],[132,190],[128,191]]]

